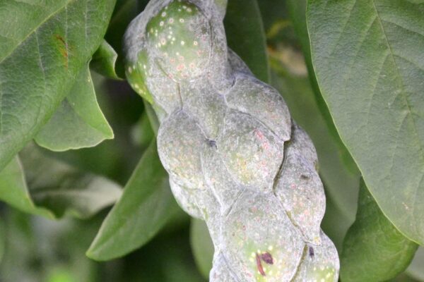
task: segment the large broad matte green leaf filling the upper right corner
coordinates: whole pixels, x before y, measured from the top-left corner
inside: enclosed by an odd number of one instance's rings
[[[309,2],[322,95],[382,212],[424,244],[424,4]]]

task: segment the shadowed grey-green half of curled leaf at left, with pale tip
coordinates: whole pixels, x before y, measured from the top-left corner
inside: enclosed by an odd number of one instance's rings
[[[57,217],[69,214],[86,219],[122,195],[117,183],[47,157],[33,146],[25,147],[20,159],[33,201]]]

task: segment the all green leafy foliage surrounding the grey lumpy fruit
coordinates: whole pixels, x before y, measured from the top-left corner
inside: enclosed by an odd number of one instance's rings
[[[0,1],[0,281],[207,281],[207,228],[173,199],[124,80],[147,2]],[[420,0],[228,3],[229,46],[317,148],[341,281],[424,281],[423,15]]]

